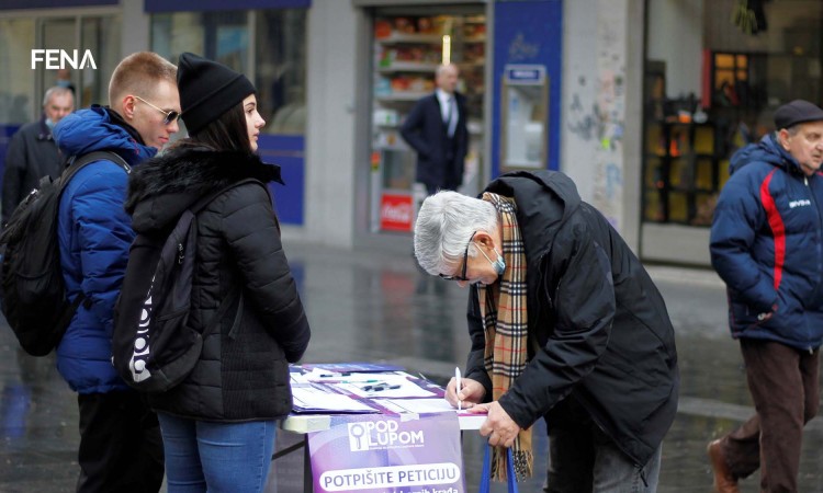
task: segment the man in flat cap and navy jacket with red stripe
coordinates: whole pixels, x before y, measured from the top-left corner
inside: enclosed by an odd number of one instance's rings
[[[777,131],[732,157],[711,227],[757,413],[709,444],[718,492],[760,469],[760,491],[798,491],[803,425],[818,413],[823,343],[823,110],[775,112]]]

